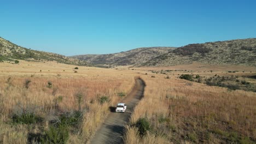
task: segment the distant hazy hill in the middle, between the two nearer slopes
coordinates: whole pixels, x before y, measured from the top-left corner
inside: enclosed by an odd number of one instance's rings
[[[174,47],[142,47],[130,51],[106,55],[72,56],[93,65],[139,65],[150,59],[174,50]]]

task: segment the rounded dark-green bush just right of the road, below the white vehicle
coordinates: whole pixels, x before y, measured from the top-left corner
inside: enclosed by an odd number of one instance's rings
[[[138,128],[139,135],[141,136],[146,135],[147,131],[151,129],[147,118],[139,118],[135,126]]]

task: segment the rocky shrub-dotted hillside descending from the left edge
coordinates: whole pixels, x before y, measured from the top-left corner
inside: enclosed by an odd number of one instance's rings
[[[14,59],[37,62],[56,61],[65,64],[88,65],[84,61],[56,53],[26,49],[25,47],[18,46],[0,37],[0,62],[14,61]]]

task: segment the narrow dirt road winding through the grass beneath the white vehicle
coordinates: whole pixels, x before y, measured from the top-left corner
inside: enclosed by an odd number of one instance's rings
[[[142,79],[136,78],[136,83],[132,91],[121,101],[127,104],[126,112],[117,113],[115,112],[115,107],[110,107],[111,113],[102,126],[96,131],[95,136],[91,140],[92,144],[124,143],[124,126],[129,122],[134,107],[143,97],[145,86],[145,82]]]

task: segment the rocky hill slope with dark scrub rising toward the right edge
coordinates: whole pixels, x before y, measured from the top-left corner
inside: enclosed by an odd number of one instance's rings
[[[170,66],[193,62],[256,66],[256,38],[189,44],[153,58],[141,66]]]

